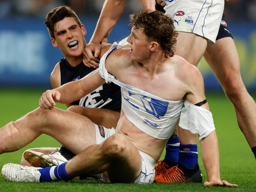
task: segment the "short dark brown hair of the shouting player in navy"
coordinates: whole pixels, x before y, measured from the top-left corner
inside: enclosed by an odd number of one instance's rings
[[[48,28],[50,37],[55,39],[54,37],[54,25],[62,21],[65,17],[73,17],[75,21],[78,23],[79,27],[81,28],[81,21],[78,19],[77,14],[75,11],[73,11],[70,7],[68,6],[60,6],[52,9],[49,13],[47,13],[45,17],[45,24]]]

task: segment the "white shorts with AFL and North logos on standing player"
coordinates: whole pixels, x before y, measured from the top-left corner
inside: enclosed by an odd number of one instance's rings
[[[164,10],[178,32],[189,32],[215,43],[224,10],[224,0],[163,0]]]

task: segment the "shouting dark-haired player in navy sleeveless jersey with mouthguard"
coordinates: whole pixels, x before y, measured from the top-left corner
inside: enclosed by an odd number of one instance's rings
[[[58,20],[54,16],[52,17],[51,14],[45,20],[52,46],[59,47],[64,55],[64,58],[55,65],[50,75],[52,88],[58,88],[65,83],[77,81],[95,70],[94,68],[86,67],[82,61],[82,52],[86,46],[84,39],[86,30],[76,13],[72,9],[67,9],[59,17],[73,18],[76,23],[54,34],[54,26]],[[113,83],[106,83],[83,98],[66,105],[69,111],[86,116],[97,125],[116,127],[121,110],[120,87]],[[22,154],[21,163],[23,165],[31,164],[45,167],[49,164],[58,165],[74,156],[64,146],[60,150],[49,147],[34,148],[28,149]]]

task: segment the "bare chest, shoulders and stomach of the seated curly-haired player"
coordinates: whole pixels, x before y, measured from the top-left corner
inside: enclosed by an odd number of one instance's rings
[[[187,73],[184,73],[187,65],[189,64],[179,56],[163,61],[155,60],[149,66],[142,65],[131,60],[129,49],[112,52],[105,62],[108,73],[114,75],[120,82],[168,101],[180,101],[189,92],[183,80],[187,78]],[[156,161],[160,158],[168,140],[168,138],[154,138],[138,129],[125,116],[123,110],[116,132],[127,136],[138,150],[147,153]]]

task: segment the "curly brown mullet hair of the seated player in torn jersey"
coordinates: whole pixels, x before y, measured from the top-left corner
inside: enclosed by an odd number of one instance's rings
[[[148,41],[160,43],[164,57],[174,55],[177,32],[174,30],[173,20],[160,11],[150,12],[140,10],[139,13],[131,14],[129,28],[141,29],[148,37]]]

